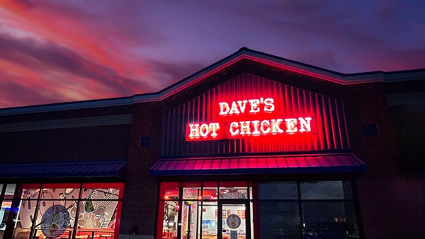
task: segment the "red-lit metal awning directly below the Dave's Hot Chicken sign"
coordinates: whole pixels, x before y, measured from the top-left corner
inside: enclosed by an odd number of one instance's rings
[[[365,163],[353,153],[302,156],[161,159],[151,175],[225,175],[270,173],[361,173]]]

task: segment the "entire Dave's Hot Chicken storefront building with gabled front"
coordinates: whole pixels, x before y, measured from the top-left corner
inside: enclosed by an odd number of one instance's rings
[[[0,110],[1,236],[421,238],[424,79],[242,48],[158,93]]]

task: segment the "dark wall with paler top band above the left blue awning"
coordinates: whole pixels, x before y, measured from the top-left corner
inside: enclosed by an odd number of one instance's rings
[[[0,117],[0,161],[125,159],[131,122],[132,112],[128,107],[3,116]]]

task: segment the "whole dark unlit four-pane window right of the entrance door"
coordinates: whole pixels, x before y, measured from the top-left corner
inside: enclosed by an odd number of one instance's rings
[[[359,238],[350,181],[259,183],[261,238]]]

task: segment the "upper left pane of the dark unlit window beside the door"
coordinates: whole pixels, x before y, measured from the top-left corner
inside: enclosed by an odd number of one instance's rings
[[[260,199],[298,199],[297,182],[259,183]]]

